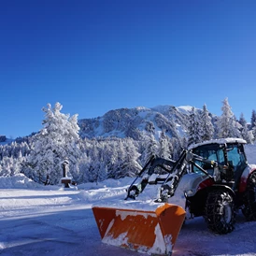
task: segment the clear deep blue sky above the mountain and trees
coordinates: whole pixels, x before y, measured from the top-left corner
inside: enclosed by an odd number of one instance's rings
[[[0,1],[0,134],[42,128],[42,107],[256,108],[256,1]]]

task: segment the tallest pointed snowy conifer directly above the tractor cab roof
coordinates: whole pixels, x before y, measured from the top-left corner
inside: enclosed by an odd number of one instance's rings
[[[219,137],[240,137],[240,133],[235,121],[235,115],[229,105],[228,98],[223,100],[221,107],[222,114],[218,121]]]

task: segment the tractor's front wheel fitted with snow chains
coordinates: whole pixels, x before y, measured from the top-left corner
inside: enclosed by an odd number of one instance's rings
[[[217,234],[227,234],[235,228],[235,202],[231,192],[209,192],[206,199],[206,223]]]

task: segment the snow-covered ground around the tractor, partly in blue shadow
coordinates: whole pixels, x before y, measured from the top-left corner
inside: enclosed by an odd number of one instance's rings
[[[0,255],[144,255],[103,244],[92,205],[122,201],[132,179],[64,190],[19,175],[0,178]],[[203,218],[185,223],[173,250],[185,255],[256,255],[256,222],[238,214],[235,231],[215,235]]]

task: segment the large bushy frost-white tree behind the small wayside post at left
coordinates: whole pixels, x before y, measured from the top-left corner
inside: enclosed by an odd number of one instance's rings
[[[48,104],[42,108],[45,112],[44,128],[34,136],[27,162],[34,171],[36,181],[42,182],[49,175],[50,182],[57,184],[63,177],[65,158],[68,159],[71,175],[78,170],[78,115],[70,117],[63,114],[62,108],[58,102],[54,107]]]

